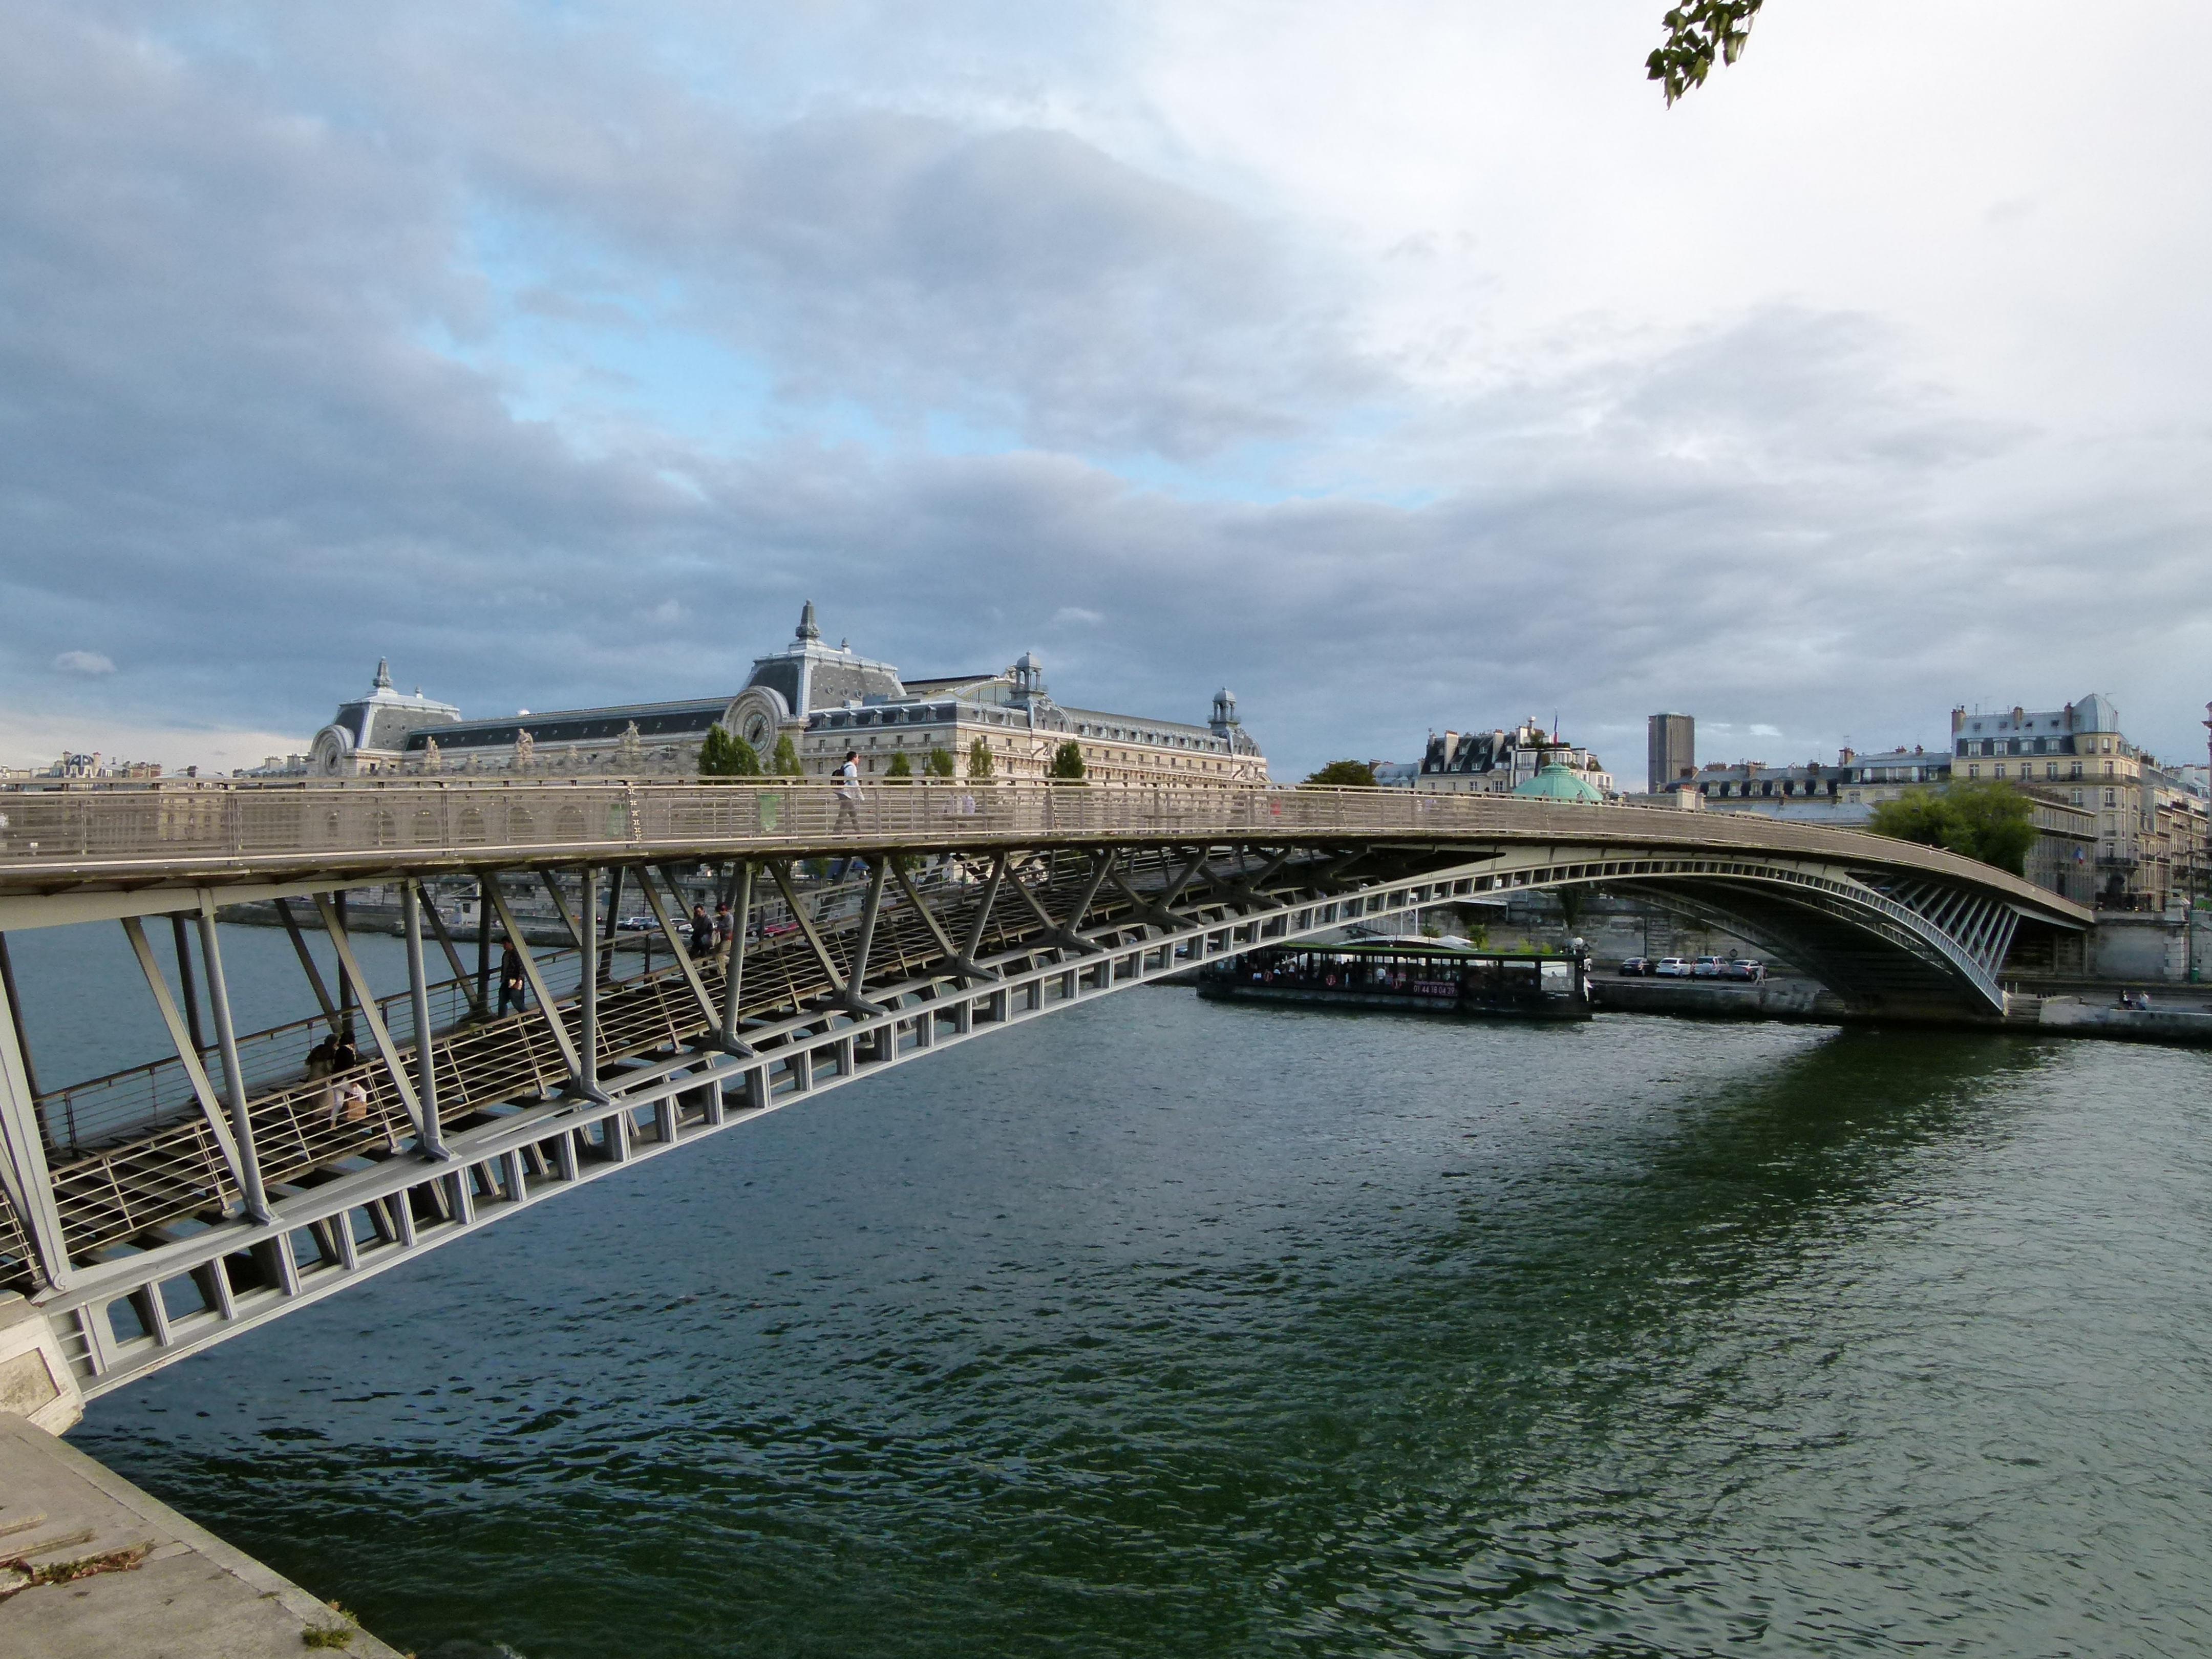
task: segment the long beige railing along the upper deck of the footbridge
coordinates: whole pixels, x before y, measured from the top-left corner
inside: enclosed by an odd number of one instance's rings
[[[1763,814],[1679,812],[1425,790],[885,783],[858,801],[830,783],[626,779],[349,779],[181,787],[0,790],[0,885],[40,872],[190,874],[347,867],[495,867],[606,858],[982,849],[1042,841],[1234,841],[1274,834],[1455,836],[1728,849],[1907,865],[2066,900],[1989,865],[1858,830]],[[1595,832],[1595,834],[1593,834]]]

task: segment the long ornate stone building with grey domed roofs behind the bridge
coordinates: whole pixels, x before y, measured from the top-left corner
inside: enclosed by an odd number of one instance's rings
[[[1144,714],[1106,714],[1055,703],[1035,653],[995,675],[900,679],[887,661],[825,646],[814,604],[783,650],[759,657],[734,697],[544,714],[462,719],[451,703],[392,688],[385,664],[367,697],[338,706],[314,734],[312,776],[520,772],[535,776],[692,776],[712,726],[752,743],[768,765],[790,737],[810,779],[827,779],[860,752],[863,774],[883,774],[905,754],[916,774],[947,750],[960,776],[978,739],[993,776],[1042,779],[1053,750],[1082,745],[1097,783],[1265,783],[1267,757],[1237,721],[1237,699],[1214,695],[1206,726]],[[272,768],[279,770],[279,768]]]

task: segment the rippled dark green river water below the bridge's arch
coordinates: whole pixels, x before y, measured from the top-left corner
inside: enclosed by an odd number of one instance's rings
[[[2208,1082],[1139,989],[73,1438],[425,1659],[2199,1655]]]

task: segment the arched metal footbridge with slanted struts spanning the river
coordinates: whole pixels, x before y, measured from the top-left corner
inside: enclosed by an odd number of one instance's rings
[[[810,878],[860,858],[845,883]],[[420,883],[473,883],[476,964]],[[560,880],[557,880],[560,876]],[[692,960],[681,885],[752,927]],[[1400,790],[409,779],[0,790],[7,933],[117,922],[175,1055],[44,1086],[0,975],[0,1287],[66,1387],[115,1389],[582,1181],[933,1048],[1263,940],[1604,883],[1761,940],[1876,1018],[2002,1013],[2015,936],[2090,914],[1989,865],[1747,814]],[[661,964],[624,973],[624,887]],[[403,896],[409,982],[374,987],[345,894]],[[489,938],[526,891],[529,1006]],[[215,918],[274,905],[307,1018],[241,1033]],[[148,938],[168,918],[184,1002]],[[770,918],[779,929],[752,938]],[[332,984],[307,949],[330,940]],[[197,945],[197,949],[195,949]],[[438,958],[427,951],[436,949]],[[449,973],[434,975],[431,960]],[[0,951],[0,967],[7,964]],[[201,1020],[206,1004],[208,1020]],[[349,1031],[365,1102],[301,1071]]]

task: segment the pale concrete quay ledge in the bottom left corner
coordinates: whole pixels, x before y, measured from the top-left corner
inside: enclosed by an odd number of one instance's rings
[[[55,1582],[44,1582],[55,1579]],[[0,1416],[0,1655],[400,1659],[323,1601],[24,1418]]]

